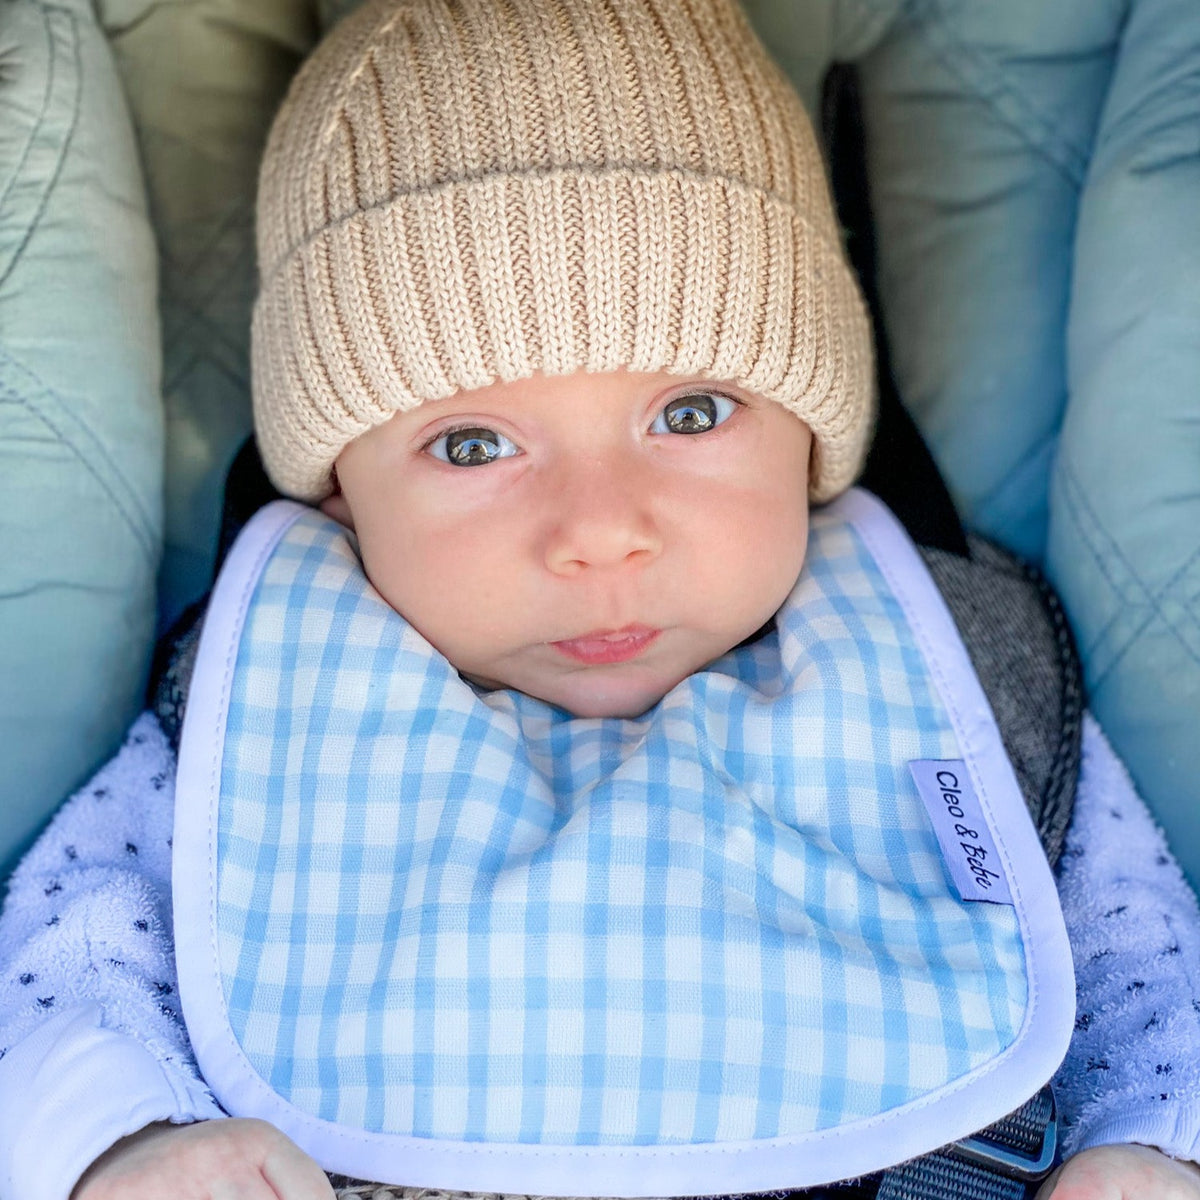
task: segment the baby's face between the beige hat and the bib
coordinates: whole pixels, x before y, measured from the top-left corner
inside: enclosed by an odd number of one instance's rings
[[[787,596],[810,445],[798,418],[725,385],[539,376],[365,433],[323,508],[469,679],[636,716]]]

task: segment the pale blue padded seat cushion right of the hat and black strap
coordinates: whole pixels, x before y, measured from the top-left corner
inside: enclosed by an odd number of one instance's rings
[[[1200,883],[1200,5],[908,0],[858,66],[900,394]]]

